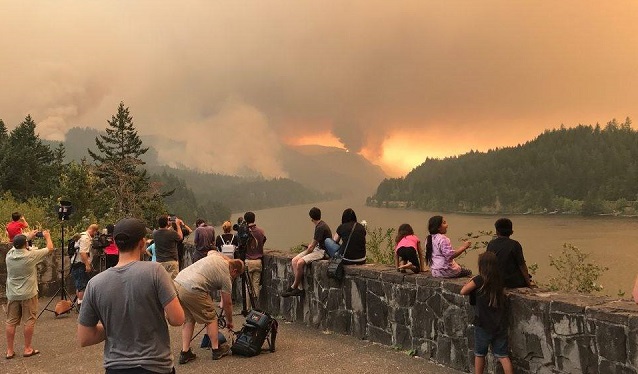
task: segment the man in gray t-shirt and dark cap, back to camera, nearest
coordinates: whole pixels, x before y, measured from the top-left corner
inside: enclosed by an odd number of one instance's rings
[[[139,261],[145,235],[141,221],[120,220],[113,231],[119,261],[93,277],[84,293],[78,341],[82,347],[105,342],[107,374],[122,369],[174,372],[166,321],[182,325],[184,311],[164,268]]]

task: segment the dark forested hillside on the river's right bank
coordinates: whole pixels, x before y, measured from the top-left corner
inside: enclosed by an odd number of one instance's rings
[[[385,179],[368,204],[445,212],[635,215],[638,132],[629,118],[604,128],[546,131],[511,148],[426,159]]]

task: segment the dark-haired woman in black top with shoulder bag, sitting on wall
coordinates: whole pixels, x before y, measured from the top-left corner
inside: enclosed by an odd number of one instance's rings
[[[326,239],[325,245],[330,257],[334,257],[337,251],[342,251],[344,265],[366,263],[366,228],[357,222],[354,210],[348,208],[343,211],[341,225],[337,227],[334,238]]]

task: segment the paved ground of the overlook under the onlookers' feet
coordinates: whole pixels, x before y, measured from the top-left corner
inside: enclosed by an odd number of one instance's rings
[[[48,299],[41,299],[41,308]],[[3,320],[6,305],[2,304]],[[77,314],[55,317],[45,311],[36,324],[34,347],[42,353],[24,358],[21,356],[22,327],[16,334],[16,351],[12,360],[0,358],[0,373],[103,373],[103,344],[80,348],[75,341]],[[235,325],[243,320],[237,316]],[[6,352],[4,323],[2,323],[2,353]],[[280,321],[277,351],[245,358],[224,357],[212,361],[210,351],[199,348],[199,337],[195,339],[193,351],[195,361],[186,365],[176,363],[177,373],[432,373],[455,374],[458,371],[444,368],[421,358],[408,356],[405,352],[358,340],[353,337],[328,334],[300,324]],[[237,329],[239,327],[236,327]],[[195,331],[199,331],[196,327]],[[171,327],[171,340],[175,359],[179,355],[180,330]]]

